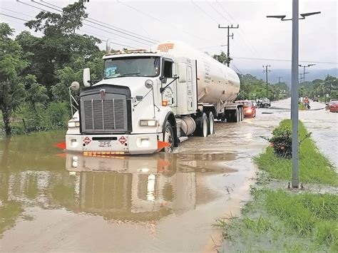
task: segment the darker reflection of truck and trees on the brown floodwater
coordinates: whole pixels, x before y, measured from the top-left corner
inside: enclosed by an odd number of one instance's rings
[[[224,163],[233,153],[64,158],[53,148],[62,138],[39,133],[0,140],[0,237],[24,220],[28,207],[154,222],[215,200],[219,193],[205,177],[235,172]]]

